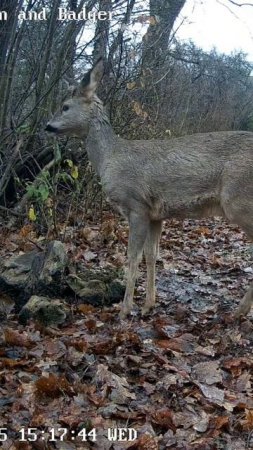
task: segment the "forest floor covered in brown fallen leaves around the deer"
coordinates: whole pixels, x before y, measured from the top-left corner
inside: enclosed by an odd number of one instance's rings
[[[43,245],[29,227],[2,235],[1,258]],[[62,236],[73,261],[121,268],[127,234],[108,214]],[[147,317],[143,263],[124,321],[119,305],[73,303],[58,328],[23,326],[10,308],[0,325],[0,447],[253,448],[253,314],[233,318],[253,280],[252,255],[244,234],[220,219],[170,221]],[[0,312],[8,304],[1,295]]]

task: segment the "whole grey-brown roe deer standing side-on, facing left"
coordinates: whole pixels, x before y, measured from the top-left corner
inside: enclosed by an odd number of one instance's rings
[[[133,305],[137,268],[144,249],[146,313],[155,304],[155,263],[162,221],[222,215],[253,238],[253,133],[222,131],[170,140],[118,137],[96,88],[100,59],[83,78],[46,130],[86,138],[88,157],[111,203],[128,219],[128,278],[121,317]],[[253,285],[236,316],[247,314]]]

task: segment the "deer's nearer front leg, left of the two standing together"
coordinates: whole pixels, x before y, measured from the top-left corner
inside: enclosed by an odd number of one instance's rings
[[[149,219],[146,216],[132,213],[129,218],[129,240],[128,240],[128,273],[126,292],[120,311],[123,319],[130,313],[133,306],[134,287],[137,278],[137,270],[142,258],[144,243],[149,227]]]

